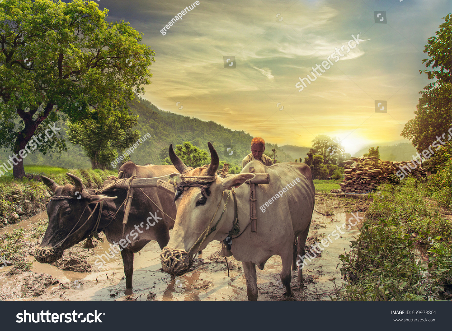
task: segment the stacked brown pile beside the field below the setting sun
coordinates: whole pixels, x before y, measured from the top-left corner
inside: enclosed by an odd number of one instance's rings
[[[411,167],[408,166],[411,165]],[[377,156],[365,156],[363,158],[352,157],[345,162],[344,183],[340,183],[345,193],[367,193],[377,188],[389,175],[396,175],[400,167],[405,166],[405,172],[415,176],[426,176],[425,170],[414,161],[393,162],[381,161]],[[404,175],[403,172],[399,175]]]

